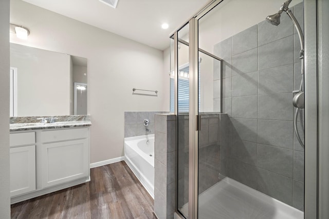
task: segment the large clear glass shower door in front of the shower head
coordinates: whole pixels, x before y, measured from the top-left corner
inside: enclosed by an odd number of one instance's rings
[[[252,3],[236,2],[218,1],[195,17],[198,218],[303,218],[304,149],[292,103],[301,81],[298,32],[285,12],[279,26],[265,21],[280,8],[275,1],[252,15]],[[289,8],[303,24],[303,3]]]

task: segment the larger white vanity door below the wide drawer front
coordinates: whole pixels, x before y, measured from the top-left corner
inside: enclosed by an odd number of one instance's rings
[[[43,144],[40,147],[42,188],[89,175],[87,139]]]

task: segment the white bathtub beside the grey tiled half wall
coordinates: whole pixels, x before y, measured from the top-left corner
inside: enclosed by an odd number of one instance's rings
[[[125,137],[124,160],[154,198],[154,134]]]

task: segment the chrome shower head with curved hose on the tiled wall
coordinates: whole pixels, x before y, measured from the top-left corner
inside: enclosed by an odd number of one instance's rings
[[[299,42],[300,42],[300,57],[301,59],[301,74],[302,74],[302,80],[300,84],[299,90],[294,90],[293,93],[295,94],[293,98],[293,105],[296,107],[295,117],[294,117],[294,130],[298,139],[299,144],[304,148],[304,143],[301,140],[301,137],[298,132],[297,128],[297,118],[298,114],[300,114],[300,124],[302,126],[303,132],[304,132],[304,125],[303,125],[303,114],[302,109],[305,107],[305,95],[304,95],[304,89],[305,89],[305,83],[304,83],[304,35],[302,32],[302,29],[294,16],[293,12],[288,8],[289,4],[292,0],[287,0],[286,2],[282,3],[280,10],[276,14],[272,14],[266,17],[266,21],[268,21],[271,25],[278,26],[280,24],[280,17],[283,11],[285,11],[288,16],[290,17],[291,21],[294,23],[295,28],[297,29],[298,36],[299,36]]]

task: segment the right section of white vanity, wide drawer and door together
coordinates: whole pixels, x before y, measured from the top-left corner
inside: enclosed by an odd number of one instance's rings
[[[89,176],[88,128],[41,131],[37,142],[41,188]]]

